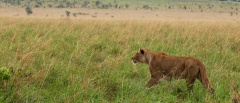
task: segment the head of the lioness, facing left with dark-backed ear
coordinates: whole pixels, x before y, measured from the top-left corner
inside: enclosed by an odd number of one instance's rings
[[[132,62],[135,63],[146,63],[146,51],[144,49],[139,49],[139,51],[131,58]]]

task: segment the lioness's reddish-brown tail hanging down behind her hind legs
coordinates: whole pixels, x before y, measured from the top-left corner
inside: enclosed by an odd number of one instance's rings
[[[206,68],[205,66],[200,62],[198,63],[198,66],[200,67],[200,74],[198,75],[198,79],[201,81],[203,86],[208,89],[209,92],[213,93],[214,89],[212,85],[210,84],[210,81],[208,80]]]

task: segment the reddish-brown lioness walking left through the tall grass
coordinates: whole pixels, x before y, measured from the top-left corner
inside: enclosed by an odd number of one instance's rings
[[[158,84],[162,79],[170,80],[172,77],[186,79],[188,90],[192,90],[194,81],[198,79],[203,86],[213,93],[205,66],[200,60],[191,57],[169,56],[166,53],[141,49],[131,58],[133,63],[146,63],[149,65],[151,79],[148,87]]]

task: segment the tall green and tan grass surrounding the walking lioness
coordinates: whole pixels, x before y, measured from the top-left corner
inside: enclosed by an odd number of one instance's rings
[[[240,90],[237,22],[2,17],[0,26],[0,67],[12,71],[1,102],[231,102]],[[192,93],[184,80],[145,88],[147,65],[130,61],[139,48],[200,59],[215,94],[199,81]]]

